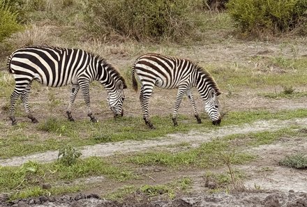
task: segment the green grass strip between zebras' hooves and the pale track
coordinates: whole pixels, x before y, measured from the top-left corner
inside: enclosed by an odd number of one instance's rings
[[[274,113],[265,110],[230,112],[223,118],[222,126],[240,125],[258,120],[304,118],[306,116],[307,109]],[[91,123],[88,120],[69,122],[66,119],[52,117],[38,125],[20,123],[13,128],[7,128],[6,125],[0,124],[0,129],[3,130],[0,135],[0,156],[1,158],[10,158],[43,151],[56,151],[68,145],[80,147],[113,141],[156,139],[170,133],[188,132],[191,128],[201,131],[218,129],[218,127],[211,125],[211,121],[208,119],[204,120],[202,124],[197,124],[190,116],[180,116],[178,127],[172,125],[170,116],[153,116],[152,121],[157,130],[147,128],[142,118],[128,116],[98,123]]]

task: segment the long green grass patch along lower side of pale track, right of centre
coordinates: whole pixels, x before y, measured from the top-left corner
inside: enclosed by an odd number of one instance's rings
[[[225,165],[225,158],[229,164],[244,164],[255,160],[256,155],[244,150],[264,144],[272,144],[280,137],[306,137],[304,132],[294,128],[283,128],[274,132],[253,132],[235,134],[214,139],[200,144],[197,148],[189,148],[177,152],[147,151],[129,155],[124,162],[139,165],[161,165],[165,167],[220,167]]]

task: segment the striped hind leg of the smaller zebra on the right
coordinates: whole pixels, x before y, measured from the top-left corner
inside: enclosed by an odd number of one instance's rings
[[[147,87],[147,89],[144,89],[144,86],[142,86],[140,90],[140,102],[141,102],[141,106],[143,109],[143,119],[146,125],[148,125],[149,128],[153,130],[155,128],[150,121],[149,112],[148,112],[149,98],[151,97],[152,89],[153,89],[153,86]]]

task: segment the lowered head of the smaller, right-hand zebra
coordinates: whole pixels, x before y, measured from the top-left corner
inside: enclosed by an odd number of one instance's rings
[[[220,95],[220,91],[216,91],[215,89],[211,89],[208,93],[208,98],[205,101],[204,109],[209,115],[212,123],[214,125],[220,125],[220,109],[218,103],[218,95]]]

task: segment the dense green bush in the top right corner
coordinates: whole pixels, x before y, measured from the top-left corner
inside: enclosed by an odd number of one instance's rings
[[[227,8],[244,32],[290,31],[306,14],[307,0],[230,0]]]

